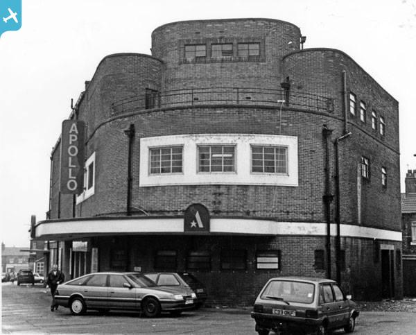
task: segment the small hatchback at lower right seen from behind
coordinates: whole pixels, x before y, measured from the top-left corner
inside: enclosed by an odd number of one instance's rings
[[[277,277],[261,289],[251,313],[256,332],[267,335],[316,332],[327,334],[343,328],[354,332],[359,311],[350,295],[345,295],[333,280],[309,277]]]

